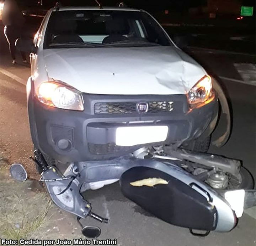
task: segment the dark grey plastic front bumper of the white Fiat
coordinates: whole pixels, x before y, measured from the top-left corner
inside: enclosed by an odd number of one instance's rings
[[[218,102],[189,110],[185,95],[83,94],[82,112],[48,107],[28,92],[28,111],[34,145],[62,162],[102,160],[133,152],[143,145],[116,145],[116,129],[127,126],[168,127],[166,141],[182,144],[213,130]],[[148,102],[147,113],[136,111],[137,102]],[[215,125],[214,125],[215,127]],[[136,136],[134,136],[136,138]]]

